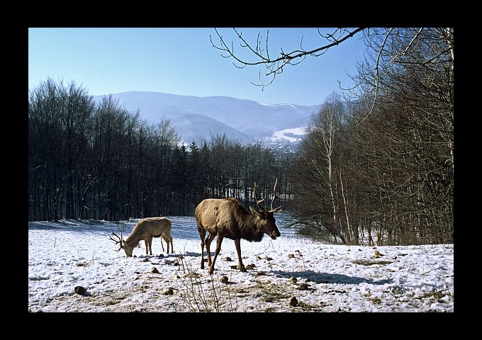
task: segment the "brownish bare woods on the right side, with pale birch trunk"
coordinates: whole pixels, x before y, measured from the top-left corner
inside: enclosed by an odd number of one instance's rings
[[[333,94],[291,166],[303,232],[360,244],[454,242],[453,29],[371,29],[352,100]]]

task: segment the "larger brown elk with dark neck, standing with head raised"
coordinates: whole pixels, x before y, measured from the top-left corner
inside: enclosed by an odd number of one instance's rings
[[[214,263],[221,250],[221,243],[225,237],[235,242],[237,258],[239,259],[240,271],[246,272],[245,265],[241,260],[241,239],[249,242],[260,242],[267,234],[271,239],[281,236],[276,227],[274,212],[281,210],[281,207],[273,209],[273,203],[276,199],[276,183],[274,182],[273,199],[271,200],[271,210],[264,210],[261,202],[264,200],[257,199],[257,184],[254,183],[254,199],[260,210],[250,207],[252,213],[247,212],[245,208],[235,198],[206,198],[196,207],[194,217],[196,217],[196,225],[201,237],[201,269],[204,269],[204,244],[208,254],[209,273],[214,272]],[[206,237],[206,232],[208,236]],[[216,242],[216,250],[213,261],[211,261],[211,242],[214,237],[218,237]]]

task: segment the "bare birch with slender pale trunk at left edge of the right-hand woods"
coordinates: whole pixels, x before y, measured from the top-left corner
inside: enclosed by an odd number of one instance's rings
[[[294,207],[301,215],[313,217],[325,227],[328,237],[351,242],[348,232],[347,199],[340,185],[343,180],[340,162],[340,129],[344,118],[344,104],[338,94],[332,94],[313,115],[307,137],[298,150],[293,166],[293,182],[297,184]],[[317,202],[306,204],[306,198]],[[345,208],[344,208],[345,207]],[[347,240],[348,236],[348,240]]]

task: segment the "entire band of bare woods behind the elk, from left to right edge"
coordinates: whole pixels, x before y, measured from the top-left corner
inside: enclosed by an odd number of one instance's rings
[[[453,28],[371,28],[353,96],[332,94],[298,152],[225,135],[179,145],[106,96],[29,90],[28,220],[192,215],[203,198],[269,207],[275,179],[300,232],[371,245],[454,242]],[[367,241],[366,241],[367,240]]]

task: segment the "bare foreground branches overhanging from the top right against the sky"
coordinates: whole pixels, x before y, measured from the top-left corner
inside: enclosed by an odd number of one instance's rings
[[[306,60],[306,57],[320,57],[327,50],[342,44],[349,38],[361,33],[366,45],[366,56],[369,62],[363,63],[361,72],[352,79],[354,86],[344,88],[348,94],[363,100],[371,101],[368,111],[359,123],[362,123],[374,110],[380,96],[381,79],[400,64],[415,63],[423,66],[449,63],[447,74],[449,84],[454,81],[454,28],[313,28],[320,35],[320,46],[306,48],[303,45],[303,36],[300,38],[299,48],[285,52],[284,47],[279,47],[279,52],[271,53],[272,45],[269,42],[269,29],[266,35],[261,31],[257,34],[254,43],[242,34],[241,30],[233,28],[239,46],[235,49],[233,41],[228,42],[215,29],[218,42],[211,45],[221,51],[221,56],[232,59],[232,64],[238,68],[248,66],[265,67],[262,74],[259,71],[259,81],[252,82],[254,86],[269,86],[281,74],[285,67],[294,66]],[[439,42],[443,42],[439,44]],[[436,47],[426,53],[423,59],[412,56],[418,54],[420,48]],[[247,53],[246,53],[247,52]],[[340,86],[341,88],[341,86]]]

